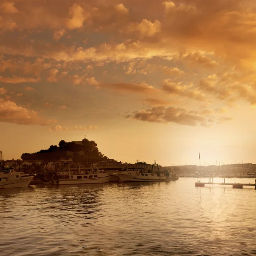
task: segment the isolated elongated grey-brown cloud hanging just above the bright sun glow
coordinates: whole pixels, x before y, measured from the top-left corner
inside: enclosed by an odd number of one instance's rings
[[[189,113],[185,108],[157,106],[147,110],[135,111],[126,115],[131,118],[144,122],[169,123],[173,122],[180,125],[209,125],[206,116],[200,113]]]

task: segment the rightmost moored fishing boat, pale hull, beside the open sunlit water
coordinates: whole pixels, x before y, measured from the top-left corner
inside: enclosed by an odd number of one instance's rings
[[[120,182],[131,181],[163,181],[169,177],[169,172],[160,172],[158,164],[154,162],[151,170],[145,170],[144,168],[128,168],[124,172],[117,172]]]

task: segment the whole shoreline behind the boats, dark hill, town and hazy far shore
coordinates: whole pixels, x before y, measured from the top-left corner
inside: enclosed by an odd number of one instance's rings
[[[12,167],[13,169],[29,173],[56,172],[64,164],[69,164],[72,169],[90,169],[92,164],[103,170],[118,171],[125,168],[151,169],[151,163],[140,162],[122,163],[110,159],[102,154],[97,143],[84,138],[81,141],[66,142],[61,140],[58,145],[51,145],[36,153],[24,153],[21,159],[3,160],[0,151],[0,169]],[[176,173],[179,177],[256,177],[256,164],[236,163],[209,166],[180,165],[161,166],[162,170]]]

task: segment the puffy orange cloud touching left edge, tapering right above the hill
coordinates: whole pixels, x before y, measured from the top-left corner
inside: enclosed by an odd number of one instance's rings
[[[15,102],[0,99],[0,122],[20,125],[50,125],[56,120],[46,120],[38,116],[36,111],[17,106]]]

